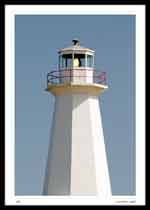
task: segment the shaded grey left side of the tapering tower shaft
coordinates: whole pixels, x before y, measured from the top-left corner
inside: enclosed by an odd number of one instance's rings
[[[45,195],[70,193],[71,113],[72,96],[56,97],[43,191]]]

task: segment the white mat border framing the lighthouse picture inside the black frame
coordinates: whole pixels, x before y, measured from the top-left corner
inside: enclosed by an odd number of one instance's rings
[[[136,195],[15,196],[15,15],[135,15]],[[5,6],[5,205],[145,205],[145,5]]]

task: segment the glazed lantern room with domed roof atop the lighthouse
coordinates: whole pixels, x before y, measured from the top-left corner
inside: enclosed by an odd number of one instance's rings
[[[93,83],[94,51],[80,46],[78,39],[59,53],[60,80],[63,83]]]

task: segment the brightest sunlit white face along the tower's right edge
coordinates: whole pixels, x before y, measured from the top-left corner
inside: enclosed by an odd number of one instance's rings
[[[107,154],[105,148],[103,126],[98,97],[90,97],[90,117],[92,126],[92,140],[94,146],[96,165],[96,186],[97,194],[101,198],[108,198],[112,195],[111,183],[108,171]]]

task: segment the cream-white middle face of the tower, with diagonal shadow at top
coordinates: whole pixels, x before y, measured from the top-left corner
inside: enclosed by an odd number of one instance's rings
[[[90,97],[73,95],[71,194],[96,195]]]

